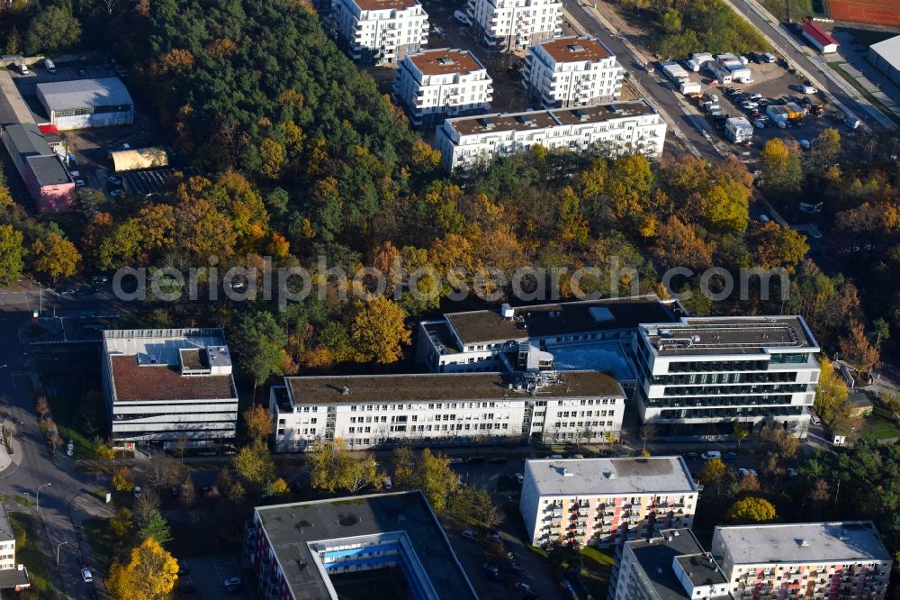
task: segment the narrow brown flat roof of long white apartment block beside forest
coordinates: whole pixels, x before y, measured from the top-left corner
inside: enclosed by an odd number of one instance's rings
[[[526,111],[524,113],[493,113],[447,119],[448,126],[462,135],[486,132],[525,132],[572,123],[603,123],[614,119],[656,114],[644,100],[622,100],[576,108]]]

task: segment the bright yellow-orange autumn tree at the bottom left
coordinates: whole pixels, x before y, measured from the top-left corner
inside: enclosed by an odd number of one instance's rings
[[[118,600],[164,600],[177,579],[178,561],[148,538],[131,550],[128,564],[112,564],[106,588]]]

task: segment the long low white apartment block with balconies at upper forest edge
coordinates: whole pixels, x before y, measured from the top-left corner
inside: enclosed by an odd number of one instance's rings
[[[666,122],[645,100],[579,108],[447,119],[437,128],[435,147],[448,171],[479,161],[526,152],[597,150],[609,155],[662,154]]]

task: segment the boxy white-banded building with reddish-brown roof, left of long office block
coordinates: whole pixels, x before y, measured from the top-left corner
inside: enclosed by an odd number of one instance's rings
[[[220,329],[106,331],[102,363],[114,443],[234,438],[238,393]]]

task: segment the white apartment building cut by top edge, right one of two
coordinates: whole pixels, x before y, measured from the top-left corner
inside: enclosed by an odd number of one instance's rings
[[[469,0],[466,12],[492,50],[524,50],[563,33],[560,0]]]

